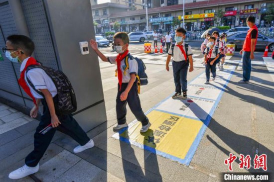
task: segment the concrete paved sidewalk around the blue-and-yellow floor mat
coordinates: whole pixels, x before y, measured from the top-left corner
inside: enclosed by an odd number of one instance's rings
[[[100,63],[108,122],[88,132],[95,147],[79,154],[78,144],[57,132],[40,162],[40,171],[20,182],[218,182],[220,173],[229,172],[224,160],[233,153],[267,154],[268,172],[274,172],[274,80],[264,65],[253,66],[250,84],[239,85],[242,72],[231,78],[217,110],[190,163],[184,166],[146,150],[111,138],[116,124],[117,78],[115,65]],[[148,110],[174,91],[172,71],[163,65],[146,65],[149,84],[141,88],[140,100]],[[171,70],[171,69],[170,69]],[[188,75],[192,80],[202,68]],[[218,75],[218,73],[217,73]],[[128,108],[127,120],[135,118]],[[8,182],[8,173],[24,164],[25,156],[33,149],[33,134],[37,120],[0,105],[0,181]],[[233,172],[241,170],[239,160]]]

